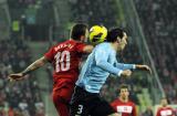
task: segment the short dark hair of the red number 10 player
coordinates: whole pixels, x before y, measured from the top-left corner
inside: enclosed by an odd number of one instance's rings
[[[81,35],[85,35],[87,25],[84,23],[76,23],[71,30],[71,38],[80,40]]]

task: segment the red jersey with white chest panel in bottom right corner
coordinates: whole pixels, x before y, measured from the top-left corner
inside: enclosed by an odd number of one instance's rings
[[[175,113],[171,107],[160,107],[158,108],[156,116],[175,116]]]

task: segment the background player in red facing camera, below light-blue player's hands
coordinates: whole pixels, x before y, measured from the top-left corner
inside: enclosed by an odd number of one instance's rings
[[[119,91],[119,97],[111,103],[113,108],[121,116],[137,116],[136,105],[128,99],[129,96],[128,86],[123,84],[121,85],[118,91]]]

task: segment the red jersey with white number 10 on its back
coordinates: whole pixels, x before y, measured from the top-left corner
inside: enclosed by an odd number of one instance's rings
[[[67,40],[52,46],[44,56],[53,64],[53,91],[67,84],[75,84],[84,43]]]

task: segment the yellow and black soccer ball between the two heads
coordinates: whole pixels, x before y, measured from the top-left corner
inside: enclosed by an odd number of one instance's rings
[[[103,25],[93,25],[90,29],[90,42],[98,44],[105,41],[107,36],[107,29]]]

